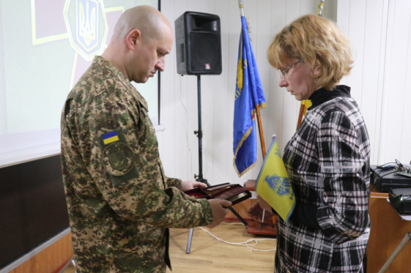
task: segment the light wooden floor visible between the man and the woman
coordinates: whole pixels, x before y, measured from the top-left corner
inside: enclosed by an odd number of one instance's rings
[[[170,257],[173,273],[273,273],[275,237],[252,237],[245,226],[225,222],[214,229],[205,229],[226,242],[240,243],[249,239],[247,246],[221,242],[206,231],[195,228],[192,235],[190,254],[186,253],[189,229],[171,229]],[[255,250],[251,249],[254,248]],[[258,251],[271,250],[271,251]],[[167,273],[171,271],[167,269]],[[73,266],[64,273],[75,273]]]

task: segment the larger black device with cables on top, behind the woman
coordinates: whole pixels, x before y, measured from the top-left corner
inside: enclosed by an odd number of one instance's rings
[[[379,192],[389,192],[390,189],[411,188],[411,177],[408,170],[399,170],[395,166],[371,166],[371,182]]]

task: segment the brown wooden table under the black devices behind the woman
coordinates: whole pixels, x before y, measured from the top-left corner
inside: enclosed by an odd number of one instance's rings
[[[371,235],[368,244],[367,272],[378,272],[406,233],[411,221],[403,220],[387,202],[388,193],[373,190],[369,198]],[[386,272],[411,272],[411,244],[399,253]]]

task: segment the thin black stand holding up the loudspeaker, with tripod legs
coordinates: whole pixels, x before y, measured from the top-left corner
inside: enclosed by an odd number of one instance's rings
[[[197,138],[199,139],[199,175],[194,174],[195,181],[199,181],[202,183],[206,183],[208,187],[210,187],[210,183],[207,182],[207,179],[203,178],[203,131],[201,130],[201,76],[197,75],[197,102],[198,102],[198,114],[199,114],[199,130],[194,131],[195,135],[197,135]],[[247,226],[247,222],[245,222],[244,219],[240,216],[240,214],[237,213],[232,207],[228,208],[234,215],[244,224]],[[190,253],[190,248],[191,248],[191,239],[192,239],[192,228],[190,229],[190,233],[188,233],[188,242],[187,242],[187,248],[186,248],[186,253]]]

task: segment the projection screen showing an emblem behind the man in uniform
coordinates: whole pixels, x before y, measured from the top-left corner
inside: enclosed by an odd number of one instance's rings
[[[60,153],[67,94],[119,16],[158,0],[0,0],[0,168]],[[134,83],[158,125],[158,78]]]

